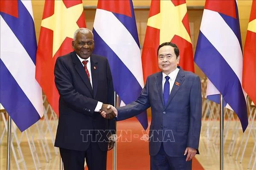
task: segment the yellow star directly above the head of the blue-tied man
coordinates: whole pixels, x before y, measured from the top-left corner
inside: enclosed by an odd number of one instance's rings
[[[148,26],[160,29],[160,44],[170,42],[177,35],[191,43],[182,23],[187,12],[186,3],[174,6],[171,0],[160,0],[160,13],[148,18]]]

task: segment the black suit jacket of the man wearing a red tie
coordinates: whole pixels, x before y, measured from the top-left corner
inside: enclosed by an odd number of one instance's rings
[[[94,112],[98,101],[114,104],[108,60],[92,54],[90,62],[93,88],[75,51],[56,60],[55,85],[60,98],[55,147],[85,151],[95,140],[91,136],[94,131],[101,150],[107,150],[109,130],[114,133],[116,129],[114,120]]]

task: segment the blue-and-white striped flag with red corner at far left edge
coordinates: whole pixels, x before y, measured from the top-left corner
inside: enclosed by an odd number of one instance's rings
[[[1,0],[0,101],[20,131],[43,116],[35,80],[36,38],[30,0]]]

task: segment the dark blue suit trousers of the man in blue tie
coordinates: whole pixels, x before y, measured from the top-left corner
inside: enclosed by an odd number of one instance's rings
[[[185,150],[184,150],[185,152]],[[191,170],[192,161],[186,161],[186,156],[171,157],[166,154],[163,142],[155,156],[150,156],[150,170]]]

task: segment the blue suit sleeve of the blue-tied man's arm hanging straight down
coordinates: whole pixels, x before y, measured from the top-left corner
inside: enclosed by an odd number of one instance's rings
[[[198,150],[202,118],[201,81],[197,76],[190,91],[190,116],[187,147]],[[198,152],[198,151],[197,151]]]

